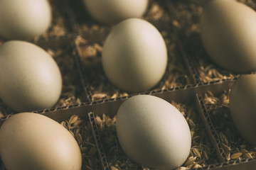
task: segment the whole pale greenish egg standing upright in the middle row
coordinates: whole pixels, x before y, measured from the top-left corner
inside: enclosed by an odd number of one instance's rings
[[[159,83],[167,65],[164,38],[151,23],[130,18],[117,24],[102,50],[107,78],[125,91],[146,91]]]

